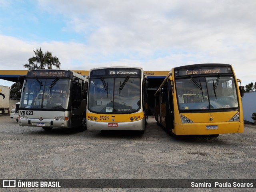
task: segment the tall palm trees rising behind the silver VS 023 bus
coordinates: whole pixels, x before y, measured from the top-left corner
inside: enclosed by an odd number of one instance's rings
[[[61,63],[57,57],[52,56],[52,52],[47,51],[44,53],[40,48],[39,50],[36,49],[34,54],[23,67],[28,68],[28,70],[45,69],[45,67],[52,69],[53,66],[60,69]]]

